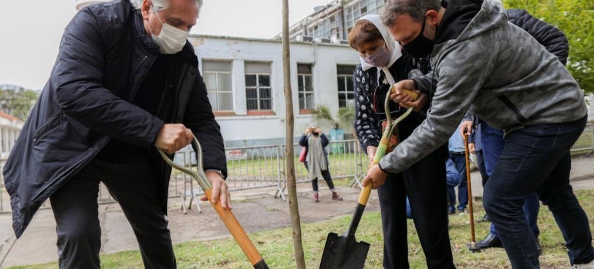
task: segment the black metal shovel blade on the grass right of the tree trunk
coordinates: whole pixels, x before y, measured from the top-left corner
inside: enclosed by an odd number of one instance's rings
[[[355,236],[346,238],[328,233],[320,269],[362,269],[369,252],[369,244],[357,242]]]

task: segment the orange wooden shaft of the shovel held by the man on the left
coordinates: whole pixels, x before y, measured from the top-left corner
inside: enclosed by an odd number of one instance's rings
[[[213,189],[209,188],[208,190],[205,190],[204,194],[208,198],[208,201],[211,201],[211,206],[213,206],[214,210],[219,214],[220,219],[223,220],[223,223],[225,223],[225,226],[227,226],[227,229],[233,238],[235,238],[235,241],[237,241],[241,250],[244,251],[249,262],[251,262],[252,265],[263,262],[260,252],[255,248],[254,244],[249,239],[248,234],[245,233],[244,228],[242,228],[235,216],[233,216],[233,213],[231,213],[231,210],[223,209],[220,201],[217,201],[216,204],[212,203]]]

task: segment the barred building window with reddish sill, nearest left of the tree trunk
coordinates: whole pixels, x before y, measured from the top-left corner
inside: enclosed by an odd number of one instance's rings
[[[270,63],[245,63],[245,97],[248,111],[272,110]]]

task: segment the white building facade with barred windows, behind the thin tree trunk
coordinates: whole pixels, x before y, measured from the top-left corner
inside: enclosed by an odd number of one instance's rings
[[[282,43],[216,36],[191,36],[189,41],[226,146],[284,143]],[[312,123],[329,130],[330,124],[318,123],[313,112],[324,105],[335,115],[339,107],[354,103],[358,54],[345,44],[298,41],[290,44],[290,53],[295,136]]]

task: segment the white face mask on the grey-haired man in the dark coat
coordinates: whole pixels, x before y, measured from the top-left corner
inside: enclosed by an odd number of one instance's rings
[[[161,28],[161,33],[159,36],[156,36],[153,33],[153,29],[151,29],[149,26],[151,37],[153,38],[154,43],[159,45],[159,52],[162,54],[175,54],[184,49],[186,40],[189,36],[189,31],[180,30],[176,27],[173,27],[172,25],[163,23],[159,17],[159,14],[154,11],[154,7],[153,12],[155,15],[157,15],[157,18],[161,24],[163,24],[163,28]]]

